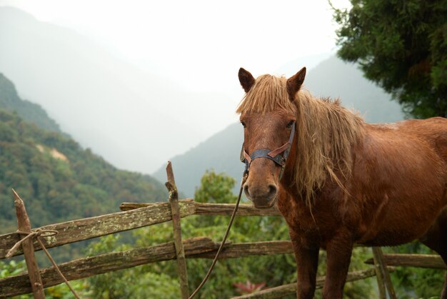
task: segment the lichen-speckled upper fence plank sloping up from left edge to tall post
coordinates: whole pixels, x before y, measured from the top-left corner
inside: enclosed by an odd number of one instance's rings
[[[195,206],[193,201],[181,201],[180,217],[194,214]],[[84,218],[64,223],[56,223],[42,226],[42,230],[57,230],[59,233],[51,237],[44,237],[46,248],[52,248],[80,240],[88,240],[109,235],[133,228],[141,228],[146,225],[154,225],[171,221],[171,208],[169,203],[153,203],[151,206],[138,208],[132,211],[118,212],[103,216]],[[0,235],[0,259],[5,258],[8,250],[20,240],[19,234],[7,233]],[[38,242],[34,242],[35,250],[41,250]],[[14,255],[22,254],[17,250]]]

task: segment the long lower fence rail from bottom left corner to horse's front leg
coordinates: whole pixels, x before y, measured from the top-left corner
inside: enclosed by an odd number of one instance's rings
[[[214,243],[211,239],[205,237],[184,240],[183,243],[186,258],[212,259],[219,248],[219,243]],[[276,249],[266,250],[266,248]],[[219,258],[281,254],[291,253],[291,251],[291,243],[289,241],[229,243],[224,246],[224,250]],[[162,260],[174,260],[175,258],[174,242],[169,242],[148,248],[136,248],[116,253],[106,253],[91,258],[72,260],[69,263],[59,265],[59,268],[67,280],[76,280],[114,270],[131,268],[136,265],[155,263]],[[45,288],[63,282],[52,267],[41,270],[41,277]],[[31,287],[26,273],[0,279],[0,298],[2,296],[21,295],[30,292]]]

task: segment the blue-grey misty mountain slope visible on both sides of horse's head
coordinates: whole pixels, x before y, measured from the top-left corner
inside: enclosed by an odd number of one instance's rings
[[[291,74],[294,71],[296,70],[293,69]],[[355,65],[345,64],[336,57],[331,57],[308,71],[304,85],[315,96],[340,97],[343,106],[360,111],[368,122],[403,119],[398,103],[390,101],[389,95],[363,78]],[[206,169],[211,168],[217,172],[226,172],[240,181],[243,171],[243,164],[239,161],[242,142],[242,126],[235,123],[184,155],[172,158],[179,191],[186,196],[194,196],[201,176]],[[165,176],[164,168],[154,173],[154,177],[160,181],[166,181]]]

